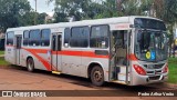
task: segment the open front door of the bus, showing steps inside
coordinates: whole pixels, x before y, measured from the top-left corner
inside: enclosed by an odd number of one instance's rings
[[[117,30],[112,36],[112,59],[110,80],[123,84],[129,83],[129,60],[131,52],[131,31]]]

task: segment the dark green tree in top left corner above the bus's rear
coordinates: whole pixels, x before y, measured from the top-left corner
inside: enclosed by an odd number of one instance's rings
[[[31,10],[28,0],[0,0],[0,28],[14,28],[25,24],[25,14]]]

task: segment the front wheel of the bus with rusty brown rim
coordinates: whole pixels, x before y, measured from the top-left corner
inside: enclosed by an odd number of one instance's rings
[[[104,72],[100,66],[95,66],[91,71],[91,81],[94,86],[101,87],[104,84]]]

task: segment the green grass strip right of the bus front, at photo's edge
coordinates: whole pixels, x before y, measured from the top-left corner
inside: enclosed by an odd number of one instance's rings
[[[177,84],[177,58],[169,58],[168,67],[169,67],[168,82]]]

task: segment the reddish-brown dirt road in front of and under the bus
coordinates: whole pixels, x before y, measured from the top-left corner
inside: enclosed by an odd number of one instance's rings
[[[163,88],[162,88],[163,87]],[[166,84],[154,86],[139,86],[139,87],[126,87],[116,83],[106,83],[104,87],[94,87],[90,80],[84,78],[77,78],[66,74],[52,74],[46,71],[35,71],[34,73],[28,72],[25,68],[21,67],[0,67],[0,90],[116,90],[117,93],[134,94],[134,91],[145,91],[147,89],[160,90],[160,89],[177,89],[176,86],[167,87]],[[0,100],[156,100],[154,97],[61,97],[61,98],[0,98]],[[177,98],[158,97],[162,100],[175,100]]]

